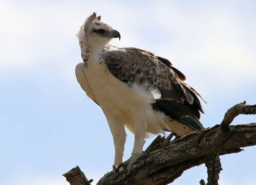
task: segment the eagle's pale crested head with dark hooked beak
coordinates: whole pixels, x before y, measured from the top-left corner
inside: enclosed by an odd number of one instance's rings
[[[120,33],[101,22],[100,19],[101,16],[96,16],[94,12],[85,20],[77,34],[80,47],[86,45],[92,49],[104,48],[111,39],[119,38],[120,40]]]

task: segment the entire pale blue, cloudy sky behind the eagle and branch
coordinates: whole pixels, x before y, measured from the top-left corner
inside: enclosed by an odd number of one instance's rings
[[[139,47],[172,61],[202,102],[205,127],[236,103],[256,103],[255,1],[0,0],[0,184],[65,185],[79,165],[93,185],[114,161],[106,119],[75,77],[82,62],[76,34],[94,11]],[[231,123],[255,122],[240,115]],[[134,137],[126,131],[125,160]],[[156,136],[148,139],[144,150]],[[255,184],[256,147],[221,156],[220,184]],[[207,180],[205,165],[172,184]]]

